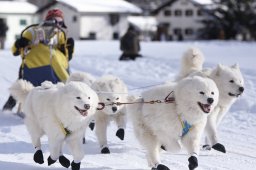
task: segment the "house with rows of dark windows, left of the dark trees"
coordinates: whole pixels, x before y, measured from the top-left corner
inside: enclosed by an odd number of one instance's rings
[[[198,21],[205,17],[200,5],[199,0],[170,0],[153,11],[159,24],[156,39],[196,39],[197,33],[203,27]]]

